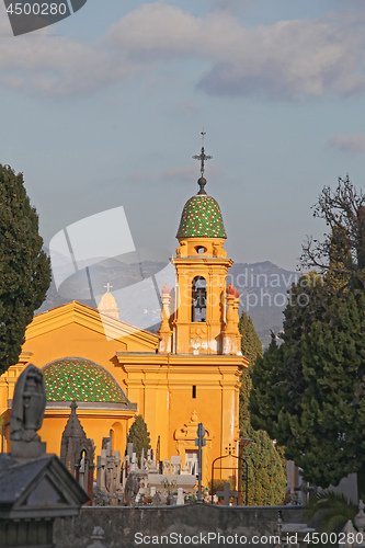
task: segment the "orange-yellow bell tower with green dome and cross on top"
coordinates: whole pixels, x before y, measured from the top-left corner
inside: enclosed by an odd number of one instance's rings
[[[227,236],[219,205],[205,191],[205,161],[212,157],[205,155],[204,132],[202,135],[202,151],[193,157],[201,161],[199,191],[186,202],[176,235],[180,247],[173,259],[178,283],[171,350],[175,354],[237,355],[238,327],[235,334],[226,329],[227,271],[233,261],[223,248]],[[233,310],[236,301],[228,304]],[[233,336],[235,344],[227,344],[227,334]]]

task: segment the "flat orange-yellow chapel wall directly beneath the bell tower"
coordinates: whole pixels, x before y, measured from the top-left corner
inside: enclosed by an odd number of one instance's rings
[[[203,482],[207,484],[213,460],[226,455],[229,445],[238,454],[239,376],[247,358],[172,354],[157,354],[153,359],[146,355],[117,357],[127,373],[128,398],[137,402],[147,423],[153,452],[160,436],[161,460],[180,455],[184,466],[185,449],[196,450],[196,429],[203,422],[209,438],[203,449]],[[192,397],[193,386],[196,398]],[[193,412],[198,422],[184,437],[181,432],[192,422]],[[227,463],[235,468],[233,459]],[[221,476],[230,473],[227,470]]]

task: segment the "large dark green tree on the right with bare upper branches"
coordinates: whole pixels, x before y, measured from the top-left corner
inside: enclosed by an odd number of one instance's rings
[[[252,423],[285,445],[305,479],[321,487],[357,472],[365,492],[365,292],[362,263],[364,195],[349,179],[324,189],[317,216],[332,232],[305,247],[326,275],[293,286],[283,343],[272,344],[252,372]],[[315,251],[313,251],[315,250]],[[326,255],[327,253],[327,255]],[[311,261],[311,263],[310,263]],[[319,283],[321,281],[321,283]],[[301,302],[300,302],[301,299]]]

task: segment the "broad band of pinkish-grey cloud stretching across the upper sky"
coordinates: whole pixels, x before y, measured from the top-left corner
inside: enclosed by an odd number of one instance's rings
[[[212,95],[343,96],[365,91],[364,19],[363,11],[356,20],[339,12],[248,27],[229,11],[198,18],[157,1],[128,12],[92,44],[45,33],[7,38],[0,81],[44,95],[91,93],[187,59],[195,75],[201,64],[195,84]]]

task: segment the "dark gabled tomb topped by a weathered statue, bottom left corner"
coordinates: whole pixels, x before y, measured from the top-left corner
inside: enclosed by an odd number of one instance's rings
[[[80,513],[88,495],[36,433],[45,409],[43,375],[30,364],[14,389],[11,453],[0,454],[0,547],[53,548],[56,517]]]

